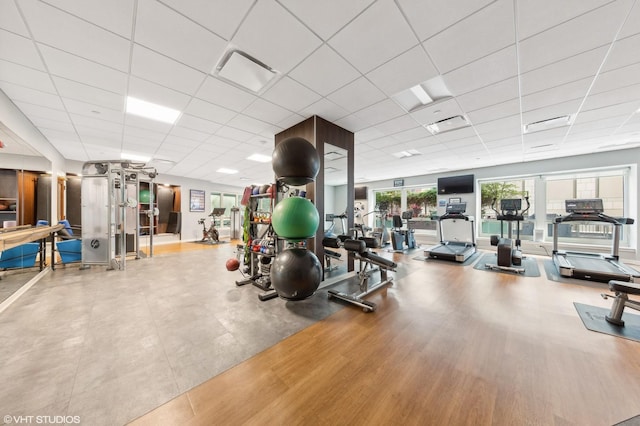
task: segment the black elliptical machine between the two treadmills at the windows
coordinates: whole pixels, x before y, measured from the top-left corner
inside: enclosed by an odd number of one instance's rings
[[[500,269],[516,273],[523,273],[522,250],[520,250],[520,222],[529,210],[529,197],[524,197],[527,208],[522,210],[522,199],[507,198],[500,200],[500,211],[496,210],[496,199],[491,202],[491,209],[496,212],[496,219],[500,221],[500,237],[491,236],[491,245],[497,246],[497,263],[486,263],[487,269]],[[503,222],[507,222],[507,238],[503,236]],[[513,240],[513,222],[516,223],[516,239]]]

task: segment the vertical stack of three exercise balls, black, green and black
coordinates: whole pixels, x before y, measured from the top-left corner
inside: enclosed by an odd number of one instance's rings
[[[291,137],[276,145],[272,158],[278,181],[292,186],[313,182],[320,169],[320,157],[306,139]],[[320,223],[318,210],[302,197],[286,197],[273,209],[271,224],[278,237],[291,243],[315,236]],[[322,280],[322,265],[306,248],[287,248],[271,265],[271,285],[283,299],[302,300],[315,293]]]

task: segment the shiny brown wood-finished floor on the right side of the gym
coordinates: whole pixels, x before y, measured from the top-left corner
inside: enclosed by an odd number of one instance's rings
[[[368,297],[375,313],[346,306],[132,424],[612,425],[640,414],[640,343],[588,331],[573,307],[609,307],[604,285],[549,281],[542,257],[532,278],[415,255],[393,255],[401,278]]]

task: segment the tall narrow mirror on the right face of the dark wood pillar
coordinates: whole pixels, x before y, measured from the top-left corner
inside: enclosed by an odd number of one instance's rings
[[[325,235],[350,235],[347,212],[347,151],[335,145],[324,146],[324,224]],[[325,260],[325,276],[347,273],[347,255],[339,249],[340,259],[332,258],[330,269]],[[326,250],[325,250],[326,252]]]

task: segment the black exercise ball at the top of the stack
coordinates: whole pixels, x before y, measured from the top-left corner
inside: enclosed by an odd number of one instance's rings
[[[271,165],[276,176],[288,185],[305,185],[318,175],[320,156],[304,138],[292,137],[276,145]]]

